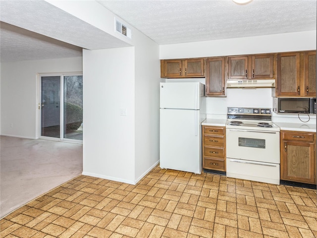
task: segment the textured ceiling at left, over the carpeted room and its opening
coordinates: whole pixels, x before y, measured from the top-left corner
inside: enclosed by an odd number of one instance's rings
[[[82,48],[129,46],[43,0],[0,0],[0,21],[1,62],[76,57],[82,56]]]

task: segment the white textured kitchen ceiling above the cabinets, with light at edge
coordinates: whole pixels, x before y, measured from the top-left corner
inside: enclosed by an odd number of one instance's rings
[[[98,0],[158,44],[316,30],[316,0]]]

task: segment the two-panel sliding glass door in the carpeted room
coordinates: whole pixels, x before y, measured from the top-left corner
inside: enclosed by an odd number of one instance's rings
[[[41,137],[83,139],[83,76],[41,75]]]

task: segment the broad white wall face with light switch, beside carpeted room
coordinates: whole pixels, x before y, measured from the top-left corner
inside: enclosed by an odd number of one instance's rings
[[[84,175],[134,183],[134,67],[134,47],[83,51]]]

